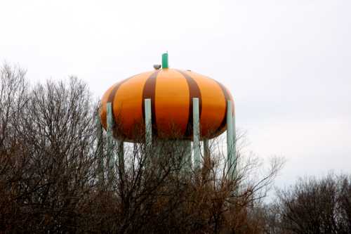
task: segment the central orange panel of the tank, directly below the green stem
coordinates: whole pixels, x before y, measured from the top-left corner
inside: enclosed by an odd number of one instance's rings
[[[182,74],[176,70],[161,70],[155,90],[155,112],[159,134],[185,134],[189,115],[189,88]],[[176,133],[178,134],[178,132]]]

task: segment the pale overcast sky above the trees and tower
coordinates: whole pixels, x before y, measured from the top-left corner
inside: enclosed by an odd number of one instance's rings
[[[232,91],[248,149],[286,157],[278,186],[350,172],[350,0],[0,0],[0,62],[33,83],[73,74],[100,97],[165,51]]]

